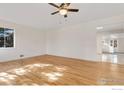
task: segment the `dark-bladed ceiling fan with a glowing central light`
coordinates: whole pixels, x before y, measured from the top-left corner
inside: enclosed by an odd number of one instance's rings
[[[66,18],[68,12],[78,12],[79,11],[79,9],[70,9],[69,8],[70,3],[61,3],[60,5],[56,5],[54,3],[49,3],[49,4],[58,9],[57,11],[51,13],[51,15],[60,13],[61,15],[64,16],[64,18]]]

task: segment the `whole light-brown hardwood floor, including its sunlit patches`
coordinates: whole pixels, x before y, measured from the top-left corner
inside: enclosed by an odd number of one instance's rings
[[[37,56],[0,63],[0,85],[124,85],[124,65]]]

